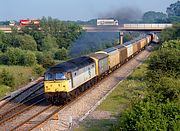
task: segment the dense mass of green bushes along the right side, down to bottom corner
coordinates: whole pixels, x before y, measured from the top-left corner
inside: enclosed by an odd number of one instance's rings
[[[114,130],[180,130],[180,40],[164,42],[149,60],[148,95],[119,117]]]

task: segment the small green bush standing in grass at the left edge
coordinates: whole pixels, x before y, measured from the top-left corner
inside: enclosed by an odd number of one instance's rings
[[[3,69],[3,71],[0,74],[0,83],[7,85],[7,86],[14,86],[15,85],[15,79],[14,76],[12,74],[10,74],[10,72],[6,71],[5,69]]]

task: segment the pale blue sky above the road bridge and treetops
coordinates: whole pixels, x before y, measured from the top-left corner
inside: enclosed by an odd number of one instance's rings
[[[178,0],[0,0],[0,21],[51,16],[60,20],[90,20],[127,9],[142,14],[166,12]],[[132,8],[132,10],[131,10]],[[111,17],[111,16],[109,16]]]

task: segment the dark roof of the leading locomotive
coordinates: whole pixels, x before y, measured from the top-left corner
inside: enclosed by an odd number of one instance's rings
[[[52,66],[47,72],[71,72],[85,67],[91,63],[94,63],[94,60],[92,58],[83,56]]]

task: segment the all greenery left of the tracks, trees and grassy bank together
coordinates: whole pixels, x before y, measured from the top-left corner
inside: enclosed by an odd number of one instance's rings
[[[59,62],[67,59],[72,42],[79,37],[82,31],[81,27],[73,22],[63,22],[51,17],[43,17],[40,21],[41,30],[32,25],[22,27],[21,33],[16,27],[10,34],[0,31],[0,64],[8,66],[0,71],[2,92],[12,91],[29,82],[30,78],[27,78],[26,74],[29,75],[28,77],[40,76],[57,60]],[[31,71],[22,71],[23,73],[19,74],[18,71],[21,69],[19,67],[16,69],[14,65],[29,68]],[[15,70],[9,71],[10,66]],[[0,94],[2,95],[4,93]]]

